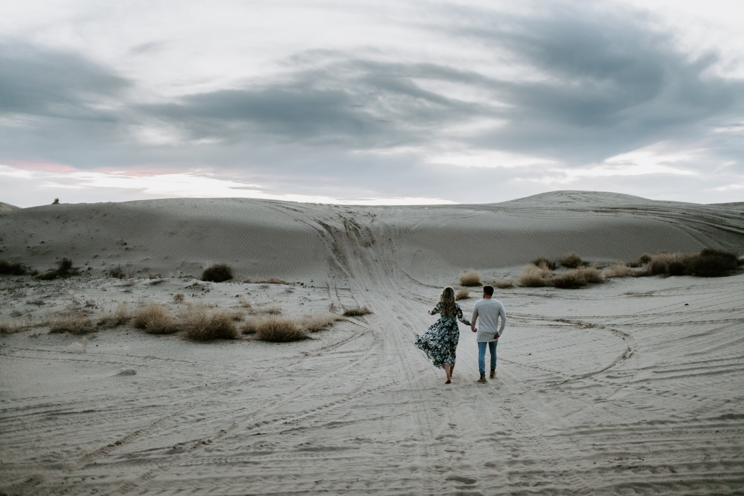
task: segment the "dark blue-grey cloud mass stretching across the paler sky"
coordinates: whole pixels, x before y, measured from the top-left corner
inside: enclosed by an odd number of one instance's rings
[[[443,43],[458,39],[474,49],[506,51],[533,77],[501,78],[391,54],[308,50],[285,61],[281,77],[142,103],[132,96],[137,83],[115,68],[4,42],[0,158],[78,168],[210,167],[299,190],[460,201],[472,198],[472,178],[530,180],[544,175],[544,167],[473,171],[427,164],[427,152],[442,144],[537,156],[570,169],[658,141],[701,141],[708,157],[734,161],[728,173],[743,172],[740,141],[711,134],[736,125],[744,113],[744,84],[716,75],[716,54],[692,59],[670,33],[630,11],[554,7],[497,16],[458,7],[449,15],[451,25],[425,29]],[[301,63],[293,69],[295,59]],[[480,100],[421,81],[472,88]],[[449,132],[478,119],[499,124]],[[142,128],[165,129],[173,138],[143,140]],[[385,153],[394,149],[407,151]],[[705,173],[708,165],[690,167]]]

